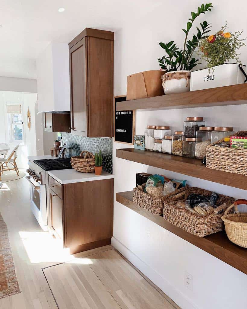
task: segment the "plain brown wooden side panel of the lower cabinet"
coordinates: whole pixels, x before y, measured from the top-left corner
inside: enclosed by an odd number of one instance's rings
[[[111,179],[64,185],[67,247],[111,238]]]

